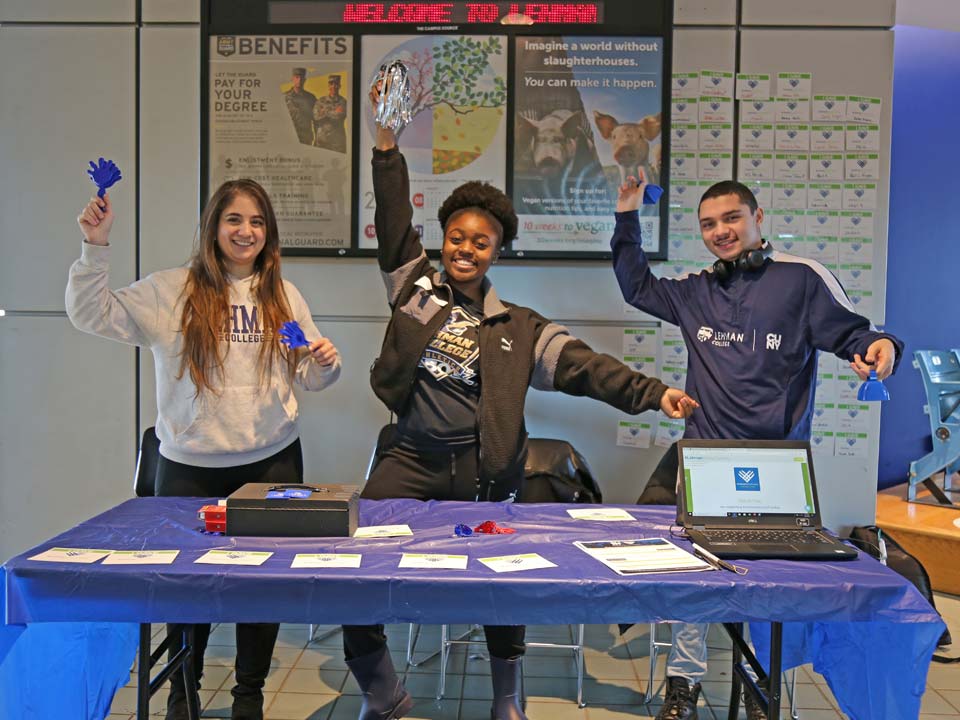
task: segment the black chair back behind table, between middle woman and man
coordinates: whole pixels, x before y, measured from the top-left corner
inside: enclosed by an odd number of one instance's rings
[[[521,502],[601,503],[590,466],[566,440],[530,438]]]

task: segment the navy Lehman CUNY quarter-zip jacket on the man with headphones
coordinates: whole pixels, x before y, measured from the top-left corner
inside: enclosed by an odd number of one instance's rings
[[[610,246],[624,299],[679,325],[687,345],[686,391],[701,405],[684,437],[808,440],[817,350],[853,360],[888,338],[853,311],[823,265],[773,251],[755,271],[721,283],[711,270],[681,280],[654,277],[640,247],[636,211],[616,214]]]

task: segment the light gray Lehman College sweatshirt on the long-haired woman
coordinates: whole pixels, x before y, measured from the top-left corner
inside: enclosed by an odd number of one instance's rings
[[[157,375],[157,437],[160,454],[174,462],[198,467],[245,465],[270,457],[299,435],[295,382],[305,390],[322,390],[340,376],[340,358],[324,367],[309,355],[300,360],[294,377],[278,358],[269,383],[260,386],[257,367],[260,343],[277,342],[276,331],[262,327],[256,298],[250,293],[253,276],[230,285],[230,327],[224,383],[217,393],[199,397],[189,371],[180,368],[180,318],[187,268],[162,270],[129,287],[109,287],[110,247],[83,243],[80,259],[70,267],[67,315],[77,329],[149,347]],[[321,337],[303,296],[283,281],[293,319],[307,340]],[[215,376],[216,380],[216,376]]]

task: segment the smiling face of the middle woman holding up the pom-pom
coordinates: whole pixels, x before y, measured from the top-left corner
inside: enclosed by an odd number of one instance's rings
[[[500,253],[499,224],[486,213],[461,210],[450,216],[440,254],[451,283],[463,292],[477,290]]]

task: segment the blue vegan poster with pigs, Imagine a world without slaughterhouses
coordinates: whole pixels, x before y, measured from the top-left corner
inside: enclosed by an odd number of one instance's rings
[[[660,38],[517,37],[513,200],[516,250],[606,252],[617,188],[661,165]],[[659,206],[641,210],[660,247]]]

